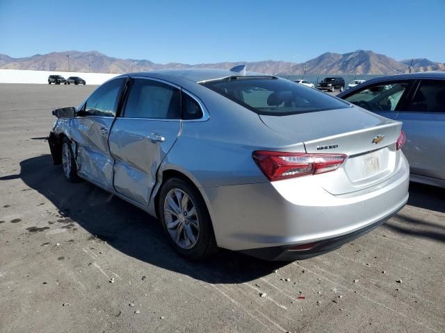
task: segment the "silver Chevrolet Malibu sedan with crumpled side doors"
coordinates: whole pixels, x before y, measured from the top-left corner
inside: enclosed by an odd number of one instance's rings
[[[189,259],[216,249],[270,260],[324,253],[401,210],[401,123],[275,76],[189,69],[127,74],[49,135],[83,178],[161,221]]]

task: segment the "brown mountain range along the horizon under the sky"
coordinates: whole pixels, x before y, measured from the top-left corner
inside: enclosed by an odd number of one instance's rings
[[[398,74],[412,71],[444,71],[445,64],[426,58],[394,60],[373,51],[357,50],[350,53],[326,52],[304,63],[264,60],[256,62],[217,62],[197,65],[169,62],[156,64],[149,60],[120,59],[108,57],[97,51],[65,51],[36,54],[26,58],[12,58],[0,53],[0,69],[31,69],[36,71],[70,71],[87,73],[128,73],[167,68],[217,68],[229,69],[236,65],[246,65],[248,71],[265,74],[300,75],[306,74]]]

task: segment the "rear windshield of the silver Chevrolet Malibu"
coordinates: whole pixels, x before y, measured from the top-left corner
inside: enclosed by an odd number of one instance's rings
[[[281,78],[223,78],[201,84],[258,114],[285,116],[349,107],[316,89]]]

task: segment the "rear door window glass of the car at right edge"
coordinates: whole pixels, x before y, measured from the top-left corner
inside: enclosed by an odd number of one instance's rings
[[[445,81],[422,80],[408,106],[408,111],[445,112]]]

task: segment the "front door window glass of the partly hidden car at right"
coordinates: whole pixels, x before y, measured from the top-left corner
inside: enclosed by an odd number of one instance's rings
[[[395,111],[408,85],[408,82],[379,83],[359,89],[344,99],[374,112]]]

